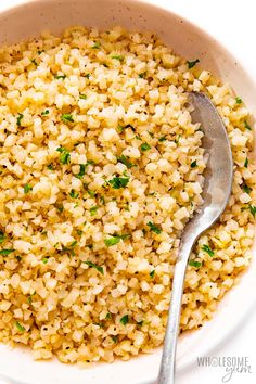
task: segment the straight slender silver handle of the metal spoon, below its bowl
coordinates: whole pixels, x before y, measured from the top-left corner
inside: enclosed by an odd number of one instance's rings
[[[171,302],[169,307],[168,323],[165,333],[164,349],[158,374],[158,384],[175,383],[175,356],[179,333],[180,311],[183,294],[183,284],[188,260],[195,239],[188,239],[179,251],[179,258],[175,266]]]

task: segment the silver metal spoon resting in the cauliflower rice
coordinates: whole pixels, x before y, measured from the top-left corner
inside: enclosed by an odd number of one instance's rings
[[[233,178],[233,162],[229,138],[216,107],[204,94],[192,92],[193,123],[201,123],[204,131],[203,146],[209,158],[203,188],[204,204],[187,225],[181,238],[179,258],[175,266],[171,302],[165,334],[158,384],[175,383],[175,357],[185,269],[190,253],[197,238],[219,218],[229,201]]]

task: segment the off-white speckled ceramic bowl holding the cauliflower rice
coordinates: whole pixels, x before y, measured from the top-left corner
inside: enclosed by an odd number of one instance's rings
[[[0,13],[0,43],[37,36],[43,29],[59,33],[82,24],[107,28],[123,25],[128,29],[157,33],[175,51],[189,60],[200,59],[202,67],[228,81],[248,108],[255,103],[256,85],[243,67],[220,43],[177,14],[135,0],[35,0],[21,1]],[[178,344],[178,371],[189,369],[196,357],[204,356],[238,330],[256,303],[256,263],[220,303],[214,319],[200,331],[182,335]],[[243,303],[241,309],[241,303]],[[34,361],[29,351],[0,345],[0,376],[26,384],[150,384],[157,376],[161,350],[128,362],[101,363],[87,370],[59,361]]]

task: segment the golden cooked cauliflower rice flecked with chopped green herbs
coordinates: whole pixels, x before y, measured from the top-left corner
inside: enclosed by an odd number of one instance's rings
[[[196,63],[120,27],[73,27],[0,49],[2,343],[79,363],[163,343],[180,236],[202,204],[206,167],[191,90],[223,118],[234,180],[191,255],[181,332],[212,318],[248,266],[248,112]]]

